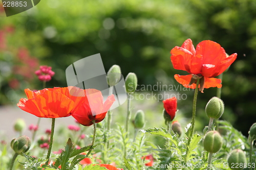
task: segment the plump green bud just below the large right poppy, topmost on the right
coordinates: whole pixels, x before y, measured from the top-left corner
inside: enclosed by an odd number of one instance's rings
[[[220,118],[224,112],[223,101],[217,97],[211,98],[205,107],[205,112],[209,118]]]

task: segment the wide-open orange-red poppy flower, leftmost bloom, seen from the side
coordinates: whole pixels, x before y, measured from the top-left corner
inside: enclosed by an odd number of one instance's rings
[[[86,100],[84,90],[78,87],[45,88],[36,92],[25,89],[25,93],[28,99],[20,99],[17,106],[37,117],[70,116]]]

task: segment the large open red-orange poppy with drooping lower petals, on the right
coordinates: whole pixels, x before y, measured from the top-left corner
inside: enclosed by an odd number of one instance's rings
[[[199,90],[204,88],[221,88],[221,80],[214,77],[222,74],[237,58],[234,53],[226,56],[220,44],[205,40],[195,47],[191,39],[187,39],[181,47],[175,46],[171,51],[170,59],[175,69],[185,70],[190,75],[175,75],[174,78],[184,87],[196,88],[196,80],[200,79]]]

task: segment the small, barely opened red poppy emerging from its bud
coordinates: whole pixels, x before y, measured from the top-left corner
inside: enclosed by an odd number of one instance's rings
[[[163,107],[167,114],[170,116],[170,121],[175,117],[177,111],[177,99],[175,97],[163,101]]]

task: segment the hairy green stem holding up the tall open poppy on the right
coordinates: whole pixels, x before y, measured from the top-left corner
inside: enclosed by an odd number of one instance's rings
[[[189,151],[189,147],[190,147],[190,142],[191,142],[191,138],[194,134],[194,129],[195,129],[198,84],[199,84],[199,80],[197,80],[195,94],[194,94],[193,111],[192,111],[192,123],[191,123],[191,129],[190,129],[189,137],[188,137],[188,140],[187,140],[187,150],[186,150],[185,163],[187,162],[187,155],[188,155],[188,151]]]

